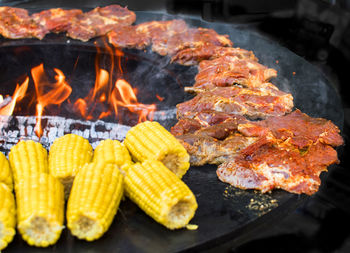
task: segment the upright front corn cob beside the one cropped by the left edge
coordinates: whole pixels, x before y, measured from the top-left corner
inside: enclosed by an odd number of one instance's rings
[[[56,243],[63,229],[64,193],[61,182],[47,173],[31,174],[15,184],[17,228],[32,246]]]

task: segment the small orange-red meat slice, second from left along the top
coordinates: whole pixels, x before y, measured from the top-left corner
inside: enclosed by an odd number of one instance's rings
[[[66,32],[74,18],[83,14],[82,10],[64,10],[61,8],[44,10],[32,15],[33,20],[50,32]]]

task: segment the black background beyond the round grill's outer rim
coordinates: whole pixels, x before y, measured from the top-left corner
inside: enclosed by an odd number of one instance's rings
[[[131,10],[155,11],[241,24],[289,48],[317,66],[339,92],[344,109],[342,136],[349,141],[350,0],[168,0],[168,1],[9,1],[23,8],[93,8],[111,3]],[[231,38],[233,42],[235,38]],[[273,54],[273,52],[266,52]],[[264,232],[208,249],[208,252],[350,252],[350,151],[338,149],[319,192]],[[214,224],[213,224],[214,225]]]

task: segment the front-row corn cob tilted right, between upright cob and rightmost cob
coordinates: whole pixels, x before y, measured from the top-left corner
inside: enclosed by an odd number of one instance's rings
[[[90,163],[74,179],[67,226],[79,239],[100,238],[111,225],[123,196],[123,175],[112,163]]]

